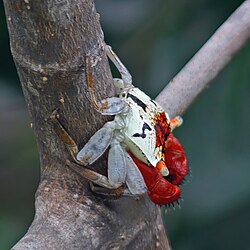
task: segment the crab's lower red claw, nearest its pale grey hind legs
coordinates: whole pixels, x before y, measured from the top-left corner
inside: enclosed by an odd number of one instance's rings
[[[150,199],[158,205],[167,205],[180,198],[181,189],[167,181],[160,171],[153,166],[148,166],[130,154],[133,161],[139,168],[146,186]]]

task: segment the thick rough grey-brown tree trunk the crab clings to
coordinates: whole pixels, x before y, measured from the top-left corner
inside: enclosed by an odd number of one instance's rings
[[[147,195],[118,199],[89,191],[49,119],[58,109],[82,147],[105,122],[86,86],[84,58],[95,63],[98,98],[114,94],[103,33],[92,0],[4,0],[10,44],[37,139],[41,181],[35,218],[13,249],[169,249],[160,209]],[[106,174],[106,158],[93,168]]]

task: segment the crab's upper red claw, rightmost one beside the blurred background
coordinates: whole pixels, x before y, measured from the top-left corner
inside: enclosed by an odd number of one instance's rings
[[[167,179],[175,185],[181,184],[188,174],[188,161],[180,141],[170,134],[165,142],[165,163],[169,170]]]

